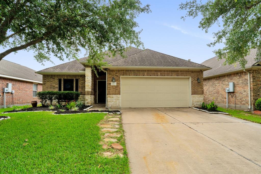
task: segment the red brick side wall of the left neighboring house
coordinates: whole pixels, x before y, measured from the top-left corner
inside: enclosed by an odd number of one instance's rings
[[[7,79],[0,77],[0,107],[4,105],[4,93],[3,88],[6,88],[7,83],[12,83],[12,90],[15,91],[13,94],[14,105],[29,104],[32,101],[40,103],[37,97],[33,97],[33,82],[25,82],[15,79]],[[38,84],[37,91],[42,91],[42,84]],[[13,105],[12,94],[5,93],[5,105]]]

